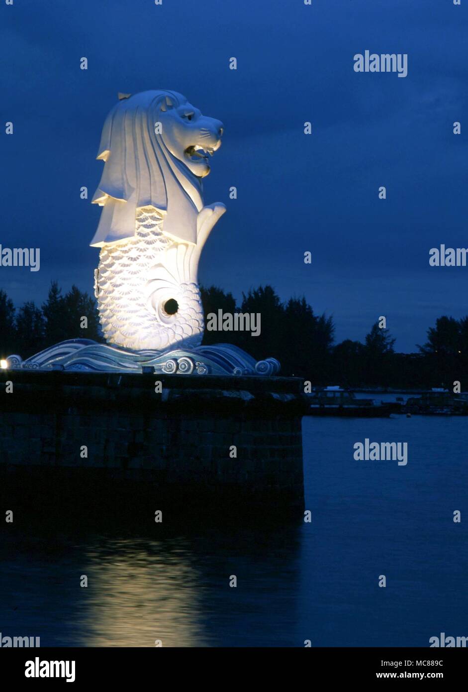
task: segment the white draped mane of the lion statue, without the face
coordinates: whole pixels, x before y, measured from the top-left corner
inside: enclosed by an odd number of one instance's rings
[[[148,206],[162,213],[165,235],[196,244],[200,179],[156,134],[167,99],[174,107],[187,101],[176,91],[143,91],[120,100],[107,116],[97,152],[104,171],[92,200],[103,209],[91,246],[134,237],[136,211]]]

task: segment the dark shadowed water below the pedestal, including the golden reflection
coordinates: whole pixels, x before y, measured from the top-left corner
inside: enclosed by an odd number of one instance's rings
[[[0,540],[0,630],[41,646],[291,646],[300,531],[17,529]]]

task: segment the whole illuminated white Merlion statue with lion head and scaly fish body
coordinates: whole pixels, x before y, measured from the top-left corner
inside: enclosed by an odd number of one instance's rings
[[[176,91],[119,95],[104,122],[93,197],[102,214],[95,296],[110,345],[165,351],[203,337],[198,260],[226,208],[203,206],[202,178],[223,123]]]

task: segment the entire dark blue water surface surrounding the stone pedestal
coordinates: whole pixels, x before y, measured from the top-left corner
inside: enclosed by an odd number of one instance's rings
[[[366,437],[406,441],[408,464],[355,461]],[[311,524],[197,528],[194,517],[127,535],[82,529],[79,517],[48,532],[3,524],[2,636],[40,636],[41,646],[429,646],[440,632],[468,636],[467,419],[305,418],[303,441]]]

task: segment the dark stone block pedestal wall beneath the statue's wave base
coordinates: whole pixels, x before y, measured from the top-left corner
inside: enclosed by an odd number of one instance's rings
[[[4,509],[301,515],[299,379],[17,370],[0,389]]]

